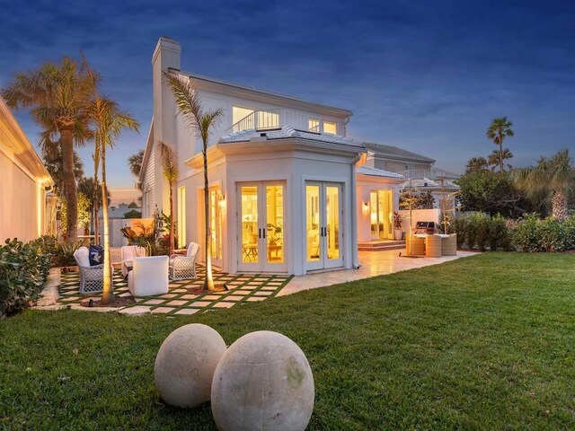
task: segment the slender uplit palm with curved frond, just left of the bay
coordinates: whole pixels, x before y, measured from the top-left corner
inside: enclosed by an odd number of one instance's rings
[[[173,92],[178,112],[191,128],[196,129],[202,141],[201,153],[204,156],[204,218],[206,225],[206,280],[204,289],[215,290],[212,275],[211,241],[209,225],[209,181],[208,181],[208,137],[224,115],[221,109],[204,111],[199,95],[194,91],[190,79],[181,78],[177,73],[164,72],[164,77]]]

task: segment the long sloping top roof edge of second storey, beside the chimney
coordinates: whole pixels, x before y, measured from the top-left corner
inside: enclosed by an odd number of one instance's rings
[[[235,95],[239,97],[244,97],[246,99],[253,99],[253,100],[262,100],[261,98],[265,98],[266,101],[271,99],[280,105],[292,106],[297,107],[298,109],[304,108],[305,110],[311,110],[314,112],[319,112],[327,115],[333,115],[335,117],[351,117],[353,112],[350,110],[343,110],[341,108],[336,108],[329,105],[324,105],[323,103],[317,103],[315,101],[305,101],[304,99],[300,99],[294,96],[288,96],[285,94],[279,94],[278,92],[269,92],[267,90],[261,90],[254,87],[248,87],[245,85],[240,84],[233,84],[228,83],[226,81],[221,81],[219,79],[210,78],[208,76],[198,75],[198,74],[191,74],[190,72],[184,72],[181,70],[171,69],[174,72],[182,76],[188,76],[191,79],[201,83],[201,84],[208,84],[212,86],[213,89],[217,89],[217,87],[226,87],[225,91],[226,94],[234,94],[234,92],[238,92]],[[224,89],[222,89],[224,90]],[[296,106],[297,105],[297,106]]]

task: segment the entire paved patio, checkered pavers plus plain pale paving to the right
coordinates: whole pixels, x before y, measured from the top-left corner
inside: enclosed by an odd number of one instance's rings
[[[405,254],[405,251],[401,251]],[[339,283],[361,280],[368,277],[393,274],[415,268],[425,268],[450,260],[473,256],[471,251],[457,251],[456,256],[441,258],[406,258],[400,256],[400,251],[359,251],[360,268],[342,269],[306,276],[281,276],[272,274],[228,274],[214,272],[214,280],[218,284],[225,283],[230,289],[227,292],[204,293],[192,295],[188,289],[201,286],[205,277],[205,268],[198,266],[198,278],[190,280],[170,281],[169,292],[164,295],[136,297],[136,303],[131,303],[119,309],[130,312],[152,312],[155,314],[189,315],[196,312],[207,312],[231,308],[237,303],[252,303],[263,301],[274,296],[295,294],[302,290]],[[114,251],[112,250],[112,256]],[[114,293],[119,297],[130,297],[128,281],[124,280],[119,270],[114,272]],[[75,272],[65,272],[61,275],[59,304],[70,305],[72,308],[86,310],[80,302],[86,298],[99,299],[100,295],[80,295],[79,275]],[[131,309],[128,311],[128,309]],[[102,310],[102,309],[101,309]],[[105,309],[104,309],[105,310]]]

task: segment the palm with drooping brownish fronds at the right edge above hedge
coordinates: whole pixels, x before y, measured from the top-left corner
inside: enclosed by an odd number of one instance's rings
[[[575,188],[575,167],[568,149],[550,158],[541,157],[534,167],[517,171],[516,179],[527,196],[536,198],[544,193],[551,200],[554,218],[567,218],[568,197]]]

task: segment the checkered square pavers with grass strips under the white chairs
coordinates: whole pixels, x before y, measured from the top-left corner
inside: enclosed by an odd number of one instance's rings
[[[205,268],[197,267],[198,277],[190,280],[170,280],[169,291],[164,295],[137,297],[136,303],[128,307],[149,307],[153,313],[170,315],[193,314],[233,307],[238,303],[263,301],[279,293],[286,286],[291,276],[270,274],[227,274],[214,272],[216,284],[226,284],[226,292],[208,292],[201,295],[190,294],[190,288],[203,285]],[[114,294],[119,297],[131,296],[128,281],[124,280],[119,270],[114,271]],[[80,303],[84,298],[99,298],[99,295],[79,294],[79,275],[75,272],[62,273],[59,303]]]

